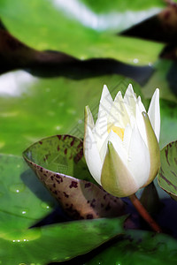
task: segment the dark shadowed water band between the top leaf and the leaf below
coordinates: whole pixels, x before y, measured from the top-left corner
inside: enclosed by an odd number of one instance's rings
[[[79,60],[59,51],[31,49],[9,34],[5,28],[0,28],[0,58],[0,73],[27,69],[33,75],[45,78],[64,76],[69,79],[84,79],[116,73],[144,83],[153,72],[150,66],[134,66],[115,59]]]

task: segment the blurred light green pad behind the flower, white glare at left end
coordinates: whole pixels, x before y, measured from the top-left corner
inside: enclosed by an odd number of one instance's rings
[[[38,79],[27,72],[0,76],[1,153],[20,155],[35,141],[58,133],[82,138],[85,106],[96,117],[104,84],[115,96],[130,82],[142,95],[135,81],[118,75],[82,80]]]

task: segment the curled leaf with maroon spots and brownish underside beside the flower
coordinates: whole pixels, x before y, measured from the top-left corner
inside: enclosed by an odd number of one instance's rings
[[[36,142],[23,153],[28,165],[65,212],[74,219],[120,216],[123,202],[91,177],[82,140],[56,135]]]

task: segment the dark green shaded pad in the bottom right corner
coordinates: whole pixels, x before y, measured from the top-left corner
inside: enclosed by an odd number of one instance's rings
[[[84,264],[176,264],[177,240],[165,234],[127,231],[127,236]]]

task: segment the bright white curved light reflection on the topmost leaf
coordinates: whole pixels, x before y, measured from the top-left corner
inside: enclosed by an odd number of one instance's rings
[[[93,28],[97,31],[104,31],[107,29],[124,30],[132,26],[132,24],[139,23],[143,19],[147,19],[160,11],[159,8],[150,8],[146,11],[114,11],[96,14],[79,0],[52,0],[52,2],[59,10],[64,11],[69,17],[73,17],[73,19],[77,19],[84,26]]]

